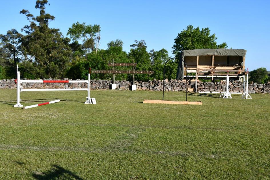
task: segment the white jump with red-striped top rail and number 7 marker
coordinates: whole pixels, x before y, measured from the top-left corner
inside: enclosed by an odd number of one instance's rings
[[[88,80],[53,80],[53,81],[45,81],[45,80],[20,80],[20,71],[17,71],[17,79],[15,79],[15,83],[17,83],[17,104],[14,107],[23,107],[20,101],[20,92],[23,91],[88,91],[88,96],[86,97],[85,104],[96,104],[95,98],[90,98],[90,73],[91,68],[89,69]],[[88,88],[81,89],[23,89],[21,87],[21,83],[87,83]]]

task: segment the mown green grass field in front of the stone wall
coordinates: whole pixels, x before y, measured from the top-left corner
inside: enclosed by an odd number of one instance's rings
[[[0,90],[0,179],[269,179],[270,95]],[[183,92],[165,100],[185,101]]]

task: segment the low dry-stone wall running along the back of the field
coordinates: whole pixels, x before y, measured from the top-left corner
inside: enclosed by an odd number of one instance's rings
[[[41,80],[41,79],[40,79]],[[42,79],[42,80],[55,80],[55,79]],[[68,80],[68,79],[63,79]],[[79,80],[79,79],[78,79]],[[135,81],[137,90],[148,91],[163,91],[163,80],[156,80],[142,82]],[[91,80],[91,89],[109,89],[112,83],[111,80]],[[129,81],[116,81],[116,89],[129,90],[131,82]],[[60,88],[87,88],[87,83],[21,83],[21,86],[25,89],[60,89]],[[188,85],[188,88],[193,86]],[[16,89],[17,85],[14,79],[0,80],[0,89]],[[171,79],[165,79],[165,91],[185,91],[185,81]],[[270,94],[270,82],[266,84],[257,84],[251,82],[249,84],[249,93],[269,93]],[[226,81],[220,82],[199,82],[198,91],[211,91],[211,92],[225,92]],[[239,80],[229,82],[229,90],[231,92],[243,92],[243,83]]]

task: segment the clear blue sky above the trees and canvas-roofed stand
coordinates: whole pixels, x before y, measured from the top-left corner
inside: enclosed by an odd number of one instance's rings
[[[101,25],[101,49],[115,39],[129,52],[134,40],[145,40],[148,51],[167,49],[187,25],[209,27],[229,48],[246,49],[246,68],[266,67],[270,71],[270,1],[87,1],[49,0],[46,12],[55,16],[50,27],[66,36],[73,23]],[[28,25],[19,14],[27,9],[34,16],[35,0],[1,1],[0,34]]]

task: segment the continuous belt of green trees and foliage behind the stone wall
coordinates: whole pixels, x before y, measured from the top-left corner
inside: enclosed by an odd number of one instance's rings
[[[72,78],[85,79],[89,67],[93,70],[112,70],[107,63],[137,63],[135,70],[152,70],[154,74],[135,75],[137,81],[148,81],[163,78],[163,66],[169,53],[166,49],[147,50],[144,40],[130,45],[129,52],[123,51],[123,41],[116,39],[109,42],[107,49],[99,49],[101,41],[100,25],[73,23],[67,31],[70,37],[64,37],[60,29],[49,27],[55,17],[45,12],[47,0],[37,0],[35,8],[39,15],[34,16],[28,10],[21,10],[29,21],[19,33],[16,29],[0,35],[1,78],[15,78],[16,65],[19,65],[21,76],[37,78]],[[173,53],[179,57],[183,49],[227,48],[226,43],[217,44],[217,37],[210,29],[193,28],[192,25],[181,31],[175,38]],[[179,59],[169,61],[165,77],[176,77]],[[132,70],[132,67],[116,67],[116,70]],[[92,79],[111,79],[112,74],[91,74]],[[116,80],[132,81],[131,74],[117,74]]]

